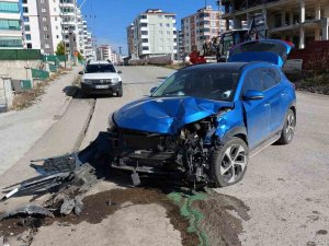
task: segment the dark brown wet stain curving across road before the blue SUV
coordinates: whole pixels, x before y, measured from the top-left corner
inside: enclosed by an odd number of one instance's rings
[[[171,224],[175,230],[181,232],[182,244],[186,246],[198,245],[196,234],[188,232],[189,222],[181,216],[179,207],[160,190],[146,188],[114,189],[86,197],[83,203],[84,210],[79,216],[71,214],[56,219],[46,219],[45,225],[50,225],[54,222],[60,224],[79,224],[83,221],[98,224],[122,208],[134,204],[157,203],[167,210],[167,215]]]

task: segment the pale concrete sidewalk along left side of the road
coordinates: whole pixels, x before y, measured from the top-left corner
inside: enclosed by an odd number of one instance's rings
[[[34,143],[63,116],[70,98],[63,91],[77,78],[75,67],[46,89],[42,99],[21,112],[0,114],[0,175],[14,165]]]

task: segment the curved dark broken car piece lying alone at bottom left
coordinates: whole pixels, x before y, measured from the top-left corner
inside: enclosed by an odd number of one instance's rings
[[[47,210],[41,206],[26,204],[26,206],[19,207],[14,210],[4,212],[2,215],[0,215],[0,221],[4,220],[7,218],[19,215],[19,214],[43,215],[43,216],[54,218],[54,214],[49,210]]]

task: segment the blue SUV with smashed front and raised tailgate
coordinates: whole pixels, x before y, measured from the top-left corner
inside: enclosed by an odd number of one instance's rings
[[[281,70],[291,49],[274,39],[240,44],[227,63],[181,69],[125,105],[109,120],[112,167],[238,183],[250,156],[293,140],[295,89]]]

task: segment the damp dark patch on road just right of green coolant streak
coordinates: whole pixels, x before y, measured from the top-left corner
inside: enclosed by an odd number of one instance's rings
[[[205,200],[196,200],[194,208],[203,213],[201,221],[209,245],[241,245],[238,235],[243,232],[242,220],[249,220],[249,208],[239,199],[211,192]],[[234,215],[237,213],[237,215]]]

